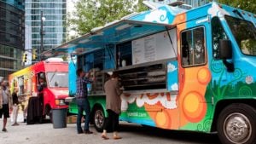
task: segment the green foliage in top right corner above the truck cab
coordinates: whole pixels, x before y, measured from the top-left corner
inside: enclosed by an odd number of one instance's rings
[[[224,3],[232,7],[247,10],[256,13],[256,1],[255,0],[218,0],[219,3]]]

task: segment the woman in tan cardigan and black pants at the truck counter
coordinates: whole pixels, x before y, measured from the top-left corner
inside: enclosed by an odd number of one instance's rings
[[[107,128],[108,125],[113,124],[113,139],[121,139],[118,135],[118,126],[119,126],[119,114],[121,112],[121,98],[122,90],[119,86],[119,76],[116,72],[113,72],[111,78],[104,84],[104,90],[106,94],[106,105],[108,112],[108,120],[104,125],[104,130],[102,133],[102,138],[108,140]]]

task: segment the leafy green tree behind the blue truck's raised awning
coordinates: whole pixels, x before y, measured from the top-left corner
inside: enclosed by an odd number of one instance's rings
[[[145,10],[142,2],[143,0],[79,0],[75,4],[73,17],[69,16],[68,25],[82,35],[134,11]]]

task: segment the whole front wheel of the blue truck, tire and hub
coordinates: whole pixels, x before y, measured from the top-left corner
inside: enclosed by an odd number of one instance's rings
[[[224,144],[256,143],[256,110],[246,104],[225,107],[218,117],[218,137]]]

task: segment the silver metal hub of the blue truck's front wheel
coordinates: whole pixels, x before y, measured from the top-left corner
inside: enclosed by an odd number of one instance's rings
[[[252,135],[252,126],[245,115],[232,113],[224,121],[224,134],[233,143],[245,143]]]

